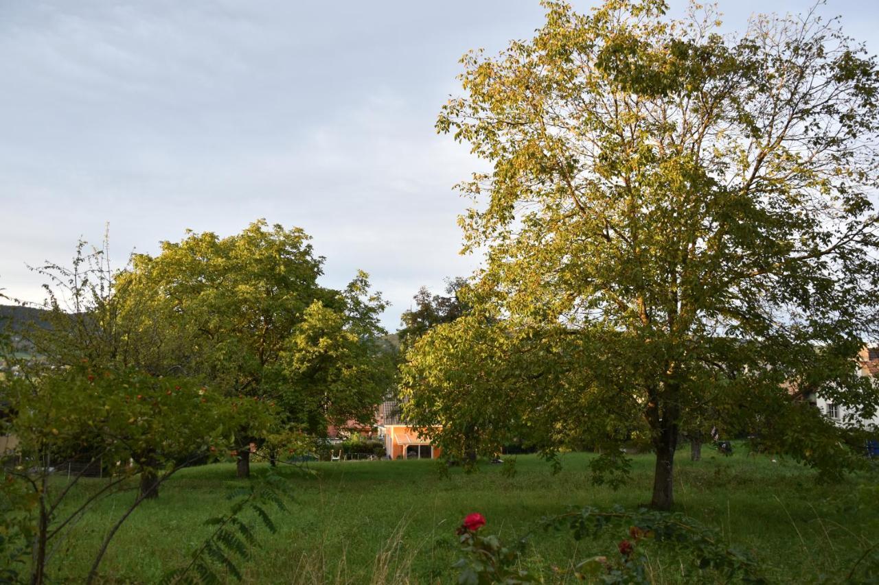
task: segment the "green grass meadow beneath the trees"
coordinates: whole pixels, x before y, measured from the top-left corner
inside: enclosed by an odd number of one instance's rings
[[[706,450],[701,462],[679,451],[676,469],[679,511],[716,527],[730,545],[751,550],[771,581],[842,581],[868,547],[879,542],[879,488],[875,474],[846,483],[820,485],[814,473],[793,462],[763,456],[732,457]],[[454,529],[474,511],[488,519],[483,529],[513,542],[532,531],[541,516],[568,506],[634,508],[650,499],[653,459],[636,456],[628,488],[614,492],[590,484],[590,455],[563,457],[556,475],[534,456],[519,456],[517,473],[482,466],[466,474],[453,468],[440,477],[431,461],[333,462],[311,464],[304,476],[287,476],[289,509],[274,512],[274,535],[259,531],[260,546],[243,564],[245,581],[259,583],[454,582],[458,558]],[[254,466],[254,475],[268,470]],[[69,505],[82,501],[101,481],[77,486]],[[228,495],[241,488],[231,464],[185,469],[163,485],[161,496],[129,517],[101,567],[106,582],[154,582],[186,563],[207,537],[208,516],[229,509]],[[107,498],[84,516],[59,545],[52,571],[59,581],[86,574],[108,526],[132,501],[132,491]],[[567,532],[535,531],[524,561],[548,582],[570,580],[571,561],[613,554],[620,531],[580,542]],[[673,554],[649,550],[656,582],[701,582],[706,577]],[[554,569],[554,567],[557,567]]]

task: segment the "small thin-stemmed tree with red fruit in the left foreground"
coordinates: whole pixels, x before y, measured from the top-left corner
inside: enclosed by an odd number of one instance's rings
[[[272,422],[271,409],[264,404],[239,405],[192,379],[113,371],[87,360],[52,368],[13,359],[0,373],[0,396],[12,411],[0,427],[18,439],[15,451],[0,458],[0,486],[4,495],[26,495],[19,497],[25,505],[12,509],[18,515],[11,519],[31,541],[34,583],[47,581],[47,560],[56,548],[52,545],[65,538],[94,502],[124,488],[129,478],[139,478],[139,489],[104,536],[90,582],[120,526],[142,502],[157,497],[164,480],[182,466],[235,449],[233,431],[244,420],[254,428]],[[77,469],[67,483],[50,480],[55,468],[72,463]],[[70,489],[96,469],[107,481],[84,502],[71,504]]]

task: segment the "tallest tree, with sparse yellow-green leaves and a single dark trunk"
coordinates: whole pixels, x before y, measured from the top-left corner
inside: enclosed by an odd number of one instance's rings
[[[565,336],[590,349],[560,362],[574,386],[532,399],[588,396],[563,420],[593,427],[634,408],[657,509],[672,506],[681,424],[705,408],[791,449],[802,427],[781,421],[843,432],[797,389],[875,412],[854,368],[879,332],[875,58],[813,14],[724,36],[695,4],[682,20],[660,0],[544,6],[534,39],[463,57],[465,94],[437,122],[491,165],[460,185],[490,310],[547,356]]]

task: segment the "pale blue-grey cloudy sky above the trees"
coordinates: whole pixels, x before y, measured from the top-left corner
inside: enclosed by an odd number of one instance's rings
[[[719,5],[741,30],[811,2]],[[818,11],[879,53],[879,3]],[[0,3],[0,289],[41,300],[27,265],[69,262],[105,226],[122,266],[265,218],[313,236],[323,285],[369,272],[395,330],[419,286],[479,263],[459,254],[453,186],[482,163],[433,127],[458,60],[542,18],[536,0]]]

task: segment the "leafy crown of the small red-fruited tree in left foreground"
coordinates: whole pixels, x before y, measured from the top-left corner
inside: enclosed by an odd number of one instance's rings
[[[226,399],[192,379],[88,364],[42,372],[18,388],[10,430],[26,460],[99,454],[141,465],[150,454],[155,465],[173,465],[190,453],[231,445],[237,424],[265,427],[272,419],[268,405]]]

